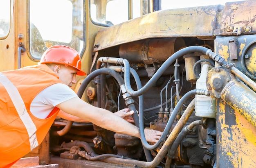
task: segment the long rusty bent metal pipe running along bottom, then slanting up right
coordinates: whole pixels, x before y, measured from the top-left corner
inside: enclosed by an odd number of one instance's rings
[[[128,165],[128,166],[137,165],[138,167],[142,167],[142,168],[156,167],[162,161],[162,159],[166,156],[166,153],[168,152],[170,146],[173,144],[173,141],[177,137],[178,133],[184,127],[185,123],[189,120],[189,117],[193,113],[194,107],[195,107],[195,100],[192,100],[191,103],[189,103],[186,110],[184,111],[180,120],[177,122],[173,131],[170,133],[167,140],[164,142],[159,153],[157,153],[156,157],[153,159],[153,161],[146,162],[146,161],[138,161],[138,160],[120,159],[120,158],[114,158],[114,157],[102,159],[101,161],[108,162],[108,163],[114,163],[114,164]]]

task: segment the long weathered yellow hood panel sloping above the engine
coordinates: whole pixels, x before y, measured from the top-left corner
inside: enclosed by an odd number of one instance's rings
[[[94,51],[156,37],[212,37],[223,6],[156,11],[97,33]]]

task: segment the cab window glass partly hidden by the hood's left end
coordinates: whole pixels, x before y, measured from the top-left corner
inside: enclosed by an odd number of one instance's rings
[[[112,26],[128,20],[128,0],[90,0],[92,21]]]

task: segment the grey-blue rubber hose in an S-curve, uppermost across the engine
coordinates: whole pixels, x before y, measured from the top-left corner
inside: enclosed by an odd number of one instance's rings
[[[152,78],[144,85],[141,89],[134,91],[130,85],[130,63],[123,59],[122,63],[124,64],[124,82],[127,92],[131,96],[139,96],[141,94],[144,94],[148,89],[150,89],[155,82],[159,79],[159,77],[164,73],[164,71],[179,57],[184,56],[185,54],[188,54],[190,52],[201,52],[203,54],[206,54],[208,48],[202,47],[202,46],[190,46],[183,48],[177,52],[175,52],[171,57],[169,57],[162,66],[157,70],[157,72],[152,76]]]

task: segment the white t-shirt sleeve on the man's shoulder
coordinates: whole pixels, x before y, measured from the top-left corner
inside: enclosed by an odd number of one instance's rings
[[[76,96],[76,93],[67,85],[56,83],[36,95],[31,102],[30,111],[37,118],[45,119],[56,105]]]

